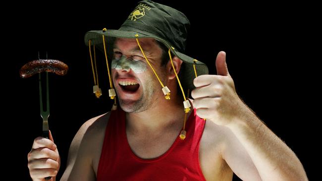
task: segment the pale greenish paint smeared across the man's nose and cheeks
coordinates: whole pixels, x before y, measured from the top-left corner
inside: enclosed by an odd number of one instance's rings
[[[142,73],[147,70],[147,65],[143,61],[133,60],[132,58],[126,58],[122,55],[120,59],[113,59],[111,64],[112,69],[116,70],[133,70],[134,73]]]

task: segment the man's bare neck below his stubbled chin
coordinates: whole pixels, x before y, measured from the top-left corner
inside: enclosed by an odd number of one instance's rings
[[[171,92],[171,95],[170,100],[160,97],[154,106],[145,111],[126,113],[127,129],[136,133],[180,129],[184,119],[182,98],[176,92]]]

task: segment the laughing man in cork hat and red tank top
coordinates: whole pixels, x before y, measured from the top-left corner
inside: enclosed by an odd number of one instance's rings
[[[86,34],[90,48],[112,53],[110,96],[116,90],[119,107],[80,128],[62,181],[229,181],[233,172],[242,180],[307,180],[296,155],[238,97],[225,52],[217,75],[181,53],[188,27],[181,12],[141,1],[119,30]],[[180,96],[187,89],[190,108]],[[34,181],[55,180],[53,137],[36,138],[28,160]]]

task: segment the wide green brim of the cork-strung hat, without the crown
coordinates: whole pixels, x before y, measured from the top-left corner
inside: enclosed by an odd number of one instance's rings
[[[106,37],[105,43],[106,43],[106,49],[107,49],[107,56],[109,58],[113,57],[113,44],[115,41],[115,38],[127,38],[127,39],[135,39],[135,38],[153,38],[161,43],[163,43],[166,47],[171,49],[171,52],[180,58],[184,64],[181,65],[181,75],[183,75],[180,78],[180,81],[185,89],[195,89],[195,86],[193,85],[193,79],[195,78],[195,72],[193,65],[195,64],[197,75],[204,75],[208,74],[208,68],[207,65],[204,64],[201,61],[194,62],[194,58],[185,55],[179,51],[177,51],[165,40],[161,39],[158,36],[155,36],[149,32],[135,30],[135,31],[123,31],[123,30],[92,30],[85,34],[85,44],[89,46],[89,40],[91,40],[91,44],[98,47],[102,52],[104,52],[104,45],[103,45],[103,38],[102,35]],[[138,37],[135,37],[135,35],[138,35]]]

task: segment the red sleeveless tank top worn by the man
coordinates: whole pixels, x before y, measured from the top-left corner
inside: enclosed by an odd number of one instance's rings
[[[126,137],[125,112],[112,111],[106,128],[97,181],[206,181],[199,163],[199,144],[205,121],[190,114],[186,138],[179,133],[171,147],[154,159],[142,159],[130,148]]]

